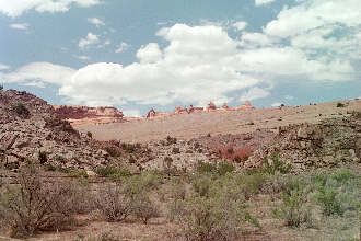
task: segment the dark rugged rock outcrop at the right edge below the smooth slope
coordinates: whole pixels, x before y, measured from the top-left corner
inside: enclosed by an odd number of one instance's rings
[[[331,168],[361,161],[361,118],[357,115],[323,119],[321,124],[290,125],[278,128],[271,144],[257,150],[245,168],[261,165],[263,159],[278,152],[293,172]]]

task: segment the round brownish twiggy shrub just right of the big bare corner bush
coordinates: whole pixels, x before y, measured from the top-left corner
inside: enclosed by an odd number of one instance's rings
[[[107,221],[123,221],[131,214],[131,199],[119,185],[107,184],[101,188],[95,205]]]

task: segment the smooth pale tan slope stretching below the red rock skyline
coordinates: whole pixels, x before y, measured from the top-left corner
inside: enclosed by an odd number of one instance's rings
[[[341,102],[346,107],[337,107]],[[361,111],[361,100],[336,101],[291,107],[256,108],[252,111],[202,112],[164,118],[130,120],[103,125],[77,125],[75,129],[91,131],[98,140],[119,139],[126,142],[148,142],[166,136],[190,139],[211,134],[244,134],[257,128],[276,130],[279,126],[318,123],[323,118]]]

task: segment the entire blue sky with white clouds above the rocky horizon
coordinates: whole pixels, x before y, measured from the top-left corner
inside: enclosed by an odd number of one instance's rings
[[[0,0],[0,83],[128,116],[361,96],[360,0]]]

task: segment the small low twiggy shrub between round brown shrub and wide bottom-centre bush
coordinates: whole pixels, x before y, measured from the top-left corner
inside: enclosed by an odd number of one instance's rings
[[[139,218],[144,225],[150,218],[160,216],[159,207],[150,200],[144,193],[138,194],[132,198],[131,214]]]

